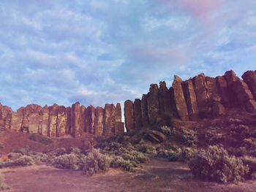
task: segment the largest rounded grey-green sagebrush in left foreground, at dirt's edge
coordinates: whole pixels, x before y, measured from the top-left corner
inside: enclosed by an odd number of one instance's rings
[[[97,149],[92,149],[87,156],[80,157],[80,169],[85,174],[95,174],[99,170],[105,171],[110,166],[110,157],[99,152]]]

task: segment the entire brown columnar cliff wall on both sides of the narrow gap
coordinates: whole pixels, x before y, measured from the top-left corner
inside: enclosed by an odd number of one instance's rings
[[[162,113],[172,113],[180,120],[200,120],[216,118],[229,108],[256,112],[256,72],[247,71],[242,78],[228,71],[223,76],[199,74],[185,81],[175,75],[170,88],[165,82],[159,82],[159,87],[151,84],[149,92],[141,99],[124,102],[127,131],[156,123]],[[29,104],[17,112],[0,104],[0,128],[48,137],[124,134],[120,104],[105,104],[103,109],[91,105],[86,108],[79,102],[72,107]]]

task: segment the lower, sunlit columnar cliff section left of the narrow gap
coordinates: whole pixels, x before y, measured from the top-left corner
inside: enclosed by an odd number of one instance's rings
[[[106,104],[105,109],[95,109],[93,106],[80,106],[79,102],[72,104],[72,107],[58,104],[40,107],[37,104],[29,104],[20,107],[17,112],[0,104],[0,128],[12,128],[48,137],[61,137],[65,134],[72,137],[82,137],[86,134],[110,137],[124,134],[120,104],[116,104],[116,107]]]

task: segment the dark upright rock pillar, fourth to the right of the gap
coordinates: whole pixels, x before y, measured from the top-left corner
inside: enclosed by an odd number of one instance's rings
[[[157,115],[159,115],[159,98],[157,84],[151,84],[147,97],[148,104],[148,121],[150,124],[157,122]]]

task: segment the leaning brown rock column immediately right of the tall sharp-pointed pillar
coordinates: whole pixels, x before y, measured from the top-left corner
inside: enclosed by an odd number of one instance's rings
[[[187,101],[187,111],[189,113],[190,120],[199,119],[199,110],[197,107],[197,97],[193,87],[192,80],[186,80],[182,83],[185,100]]]

